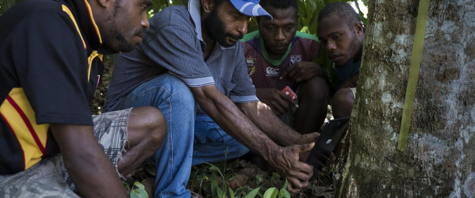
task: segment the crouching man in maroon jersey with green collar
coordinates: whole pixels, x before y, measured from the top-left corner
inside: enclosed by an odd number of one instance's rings
[[[259,30],[241,40],[257,98],[295,131],[316,132],[325,120],[328,103],[322,70],[312,62],[320,57],[320,41],[296,31],[296,0],[261,0],[260,4],[273,19],[258,18]],[[281,92],[285,86],[297,94],[296,101]]]

